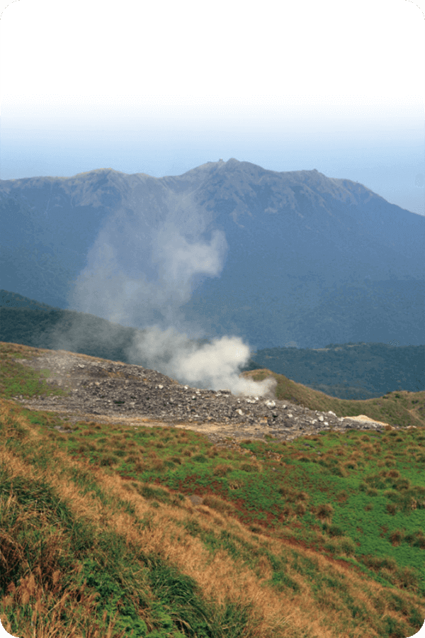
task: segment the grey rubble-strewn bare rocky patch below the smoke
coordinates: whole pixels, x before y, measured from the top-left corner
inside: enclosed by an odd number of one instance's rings
[[[138,365],[64,350],[39,352],[42,354],[31,359],[15,361],[40,371],[40,383],[44,379],[52,388],[66,391],[67,396],[40,393],[32,398],[14,396],[13,401],[31,410],[61,413],[61,418],[67,415],[71,422],[101,422],[106,418],[129,425],[186,427],[205,432],[215,442],[229,437],[263,439],[266,434],[293,440],[330,428],[379,430],[385,425],[368,417],[339,418],[332,412],[278,401],[273,388],[266,396],[234,396],[225,388],[214,391],[179,384]]]

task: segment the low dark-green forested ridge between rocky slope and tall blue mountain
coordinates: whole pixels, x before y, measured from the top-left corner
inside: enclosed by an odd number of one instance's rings
[[[57,325],[71,323],[74,329],[81,327],[86,335],[77,347],[72,347],[72,352],[151,367],[143,353],[140,359],[130,361],[128,358],[128,347],[139,332],[135,328],[117,326],[94,315],[51,308],[0,290],[0,341],[57,349],[50,335]],[[424,345],[356,343],[328,344],[323,349],[275,347],[251,353],[251,360],[241,366],[240,371],[261,368],[283,374],[328,396],[357,401],[396,390],[425,390]]]

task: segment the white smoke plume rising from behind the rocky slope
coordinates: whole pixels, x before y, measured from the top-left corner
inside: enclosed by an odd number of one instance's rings
[[[212,229],[210,240],[203,238],[208,211],[191,195],[161,195],[133,200],[104,221],[73,282],[69,308],[143,330],[126,352],[129,363],[143,361],[197,388],[266,395],[274,379],[239,377],[249,345],[235,336],[208,340],[201,320],[188,322],[181,311],[197,278],[220,276],[229,249],[225,233]],[[113,328],[102,338],[113,340]],[[55,347],[72,350],[86,340],[83,324],[72,325],[67,335],[55,336]]]

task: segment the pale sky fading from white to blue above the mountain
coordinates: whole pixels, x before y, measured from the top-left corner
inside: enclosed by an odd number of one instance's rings
[[[230,157],[424,209],[424,14],[409,0],[18,0],[1,179]]]

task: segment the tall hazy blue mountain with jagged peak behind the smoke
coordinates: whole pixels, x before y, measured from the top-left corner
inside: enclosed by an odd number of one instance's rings
[[[200,211],[198,226],[188,202]],[[188,245],[225,237],[222,267],[215,276],[200,270],[181,304],[208,336],[237,335],[253,349],[424,342],[423,216],[348,179],[269,171],[233,158],[175,177],[98,169],[1,180],[0,285],[68,308],[72,281],[99,233],[113,223],[125,237],[120,228],[130,228],[130,243],[114,248],[137,276],[153,230],[173,206]],[[157,281],[152,259],[143,272]],[[143,301],[145,311],[151,301]],[[99,308],[89,312],[104,316]],[[130,313],[128,325],[142,328],[137,317]]]

